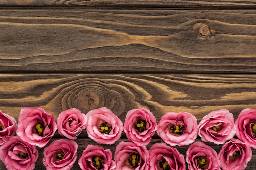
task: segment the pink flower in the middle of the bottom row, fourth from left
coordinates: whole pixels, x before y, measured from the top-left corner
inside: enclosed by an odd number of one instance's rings
[[[145,145],[121,141],[115,150],[116,170],[148,170],[148,150]]]

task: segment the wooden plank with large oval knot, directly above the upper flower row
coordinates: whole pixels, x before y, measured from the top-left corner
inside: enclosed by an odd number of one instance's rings
[[[168,111],[202,119],[228,109],[236,118],[256,108],[254,74],[0,74],[0,109],[18,118],[22,107],[58,114],[108,107],[124,122],[134,108],[148,107],[157,121]]]

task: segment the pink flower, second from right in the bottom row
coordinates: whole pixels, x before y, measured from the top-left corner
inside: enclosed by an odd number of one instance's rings
[[[186,151],[189,170],[220,170],[220,160],[216,151],[202,142],[194,142]]]

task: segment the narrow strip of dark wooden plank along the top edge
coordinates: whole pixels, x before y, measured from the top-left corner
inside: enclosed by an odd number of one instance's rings
[[[254,0],[0,0],[0,7],[247,8]]]

